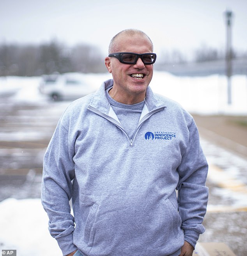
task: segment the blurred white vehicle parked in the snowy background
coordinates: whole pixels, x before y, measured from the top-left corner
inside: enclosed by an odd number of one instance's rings
[[[39,91],[58,101],[75,100],[94,92],[95,89],[83,80],[83,75],[70,73],[42,76]]]

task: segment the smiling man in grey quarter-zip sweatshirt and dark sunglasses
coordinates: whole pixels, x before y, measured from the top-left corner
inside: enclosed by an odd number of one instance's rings
[[[191,115],[148,87],[155,59],[146,34],[118,33],[113,80],[60,118],[42,204],[63,255],[191,256],[204,232],[208,165]]]

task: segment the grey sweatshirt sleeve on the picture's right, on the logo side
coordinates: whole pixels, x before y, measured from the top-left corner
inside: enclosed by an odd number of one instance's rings
[[[205,186],[208,164],[199,143],[194,119],[190,121],[188,130],[189,141],[178,167],[178,210],[185,241],[195,247],[199,234],[205,231],[202,222],[208,202],[208,188]]]

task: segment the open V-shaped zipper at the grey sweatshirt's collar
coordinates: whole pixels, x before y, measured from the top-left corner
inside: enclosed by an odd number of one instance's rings
[[[134,141],[134,138],[136,136],[136,133],[138,132],[139,128],[141,127],[141,125],[150,117],[152,116],[153,114],[163,110],[165,107],[160,107],[160,108],[157,108],[157,109],[154,109],[152,110],[151,112],[148,112],[148,114],[146,114],[142,119],[141,119],[141,122],[138,123],[138,126],[134,132],[134,135],[133,135],[133,138],[130,139],[129,135],[125,132],[124,128],[121,126],[120,123],[118,123],[118,121],[116,121],[113,117],[111,116],[108,116],[107,114],[104,114],[102,113],[101,111],[99,111],[97,108],[94,108],[94,107],[91,107],[91,106],[88,106],[87,107],[88,110],[94,112],[95,114],[99,115],[99,116],[102,116],[104,117],[105,119],[107,119],[108,121],[110,121],[111,123],[115,124],[120,130],[122,130],[126,136],[128,137],[129,141],[130,141],[130,145],[131,147],[133,147],[133,141]]]

